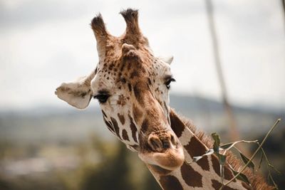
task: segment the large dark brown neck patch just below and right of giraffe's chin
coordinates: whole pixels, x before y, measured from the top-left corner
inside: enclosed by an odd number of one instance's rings
[[[202,175],[195,171],[191,166],[184,163],[181,167],[181,174],[187,185],[202,187]]]

